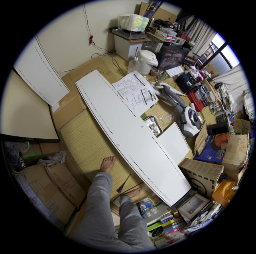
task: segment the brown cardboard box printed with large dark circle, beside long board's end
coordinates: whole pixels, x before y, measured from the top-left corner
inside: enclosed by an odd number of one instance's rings
[[[179,165],[191,187],[211,200],[211,196],[222,180],[224,166],[185,158]]]

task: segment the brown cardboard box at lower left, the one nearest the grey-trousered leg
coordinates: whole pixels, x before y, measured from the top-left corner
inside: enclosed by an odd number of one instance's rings
[[[71,175],[66,165],[57,164],[53,167],[45,167],[53,183],[59,187],[62,193],[76,206],[82,203],[86,193]]]

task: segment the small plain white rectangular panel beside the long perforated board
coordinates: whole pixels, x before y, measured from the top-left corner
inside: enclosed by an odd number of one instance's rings
[[[173,158],[178,165],[182,159],[189,152],[189,146],[181,133],[181,130],[174,122],[163,134],[160,135],[158,140],[167,150],[169,155]]]

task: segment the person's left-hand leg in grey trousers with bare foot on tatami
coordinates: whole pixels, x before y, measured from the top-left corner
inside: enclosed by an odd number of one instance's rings
[[[130,246],[118,240],[112,214],[110,195],[112,177],[109,175],[116,158],[104,158],[93,183],[88,191],[85,217],[70,237],[92,248],[106,251],[131,252]]]

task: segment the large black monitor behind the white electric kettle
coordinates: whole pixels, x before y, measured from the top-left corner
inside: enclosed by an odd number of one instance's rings
[[[181,65],[185,57],[189,53],[189,49],[175,45],[162,46],[157,56],[158,69],[171,69]]]

